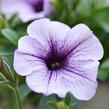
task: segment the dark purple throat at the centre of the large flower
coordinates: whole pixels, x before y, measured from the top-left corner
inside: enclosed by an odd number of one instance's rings
[[[58,70],[65,65],[65,58],[66,55],[63,52],[57,51],[57,45],[52,44],[51,51],[47,55],[45,63],[49,70]]]

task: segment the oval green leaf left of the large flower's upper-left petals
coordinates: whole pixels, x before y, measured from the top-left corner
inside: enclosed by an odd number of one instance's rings
[[[2,29],[1,33],[14,45],[17,45],[18,34],[10,28]]]

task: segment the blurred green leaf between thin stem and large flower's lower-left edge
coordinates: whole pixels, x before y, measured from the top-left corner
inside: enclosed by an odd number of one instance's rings
[[[21,100],[23,100],[30,92],[31,90],[27,87],[26,84],[23,84],[19,87],[19,93],[21,96]]]

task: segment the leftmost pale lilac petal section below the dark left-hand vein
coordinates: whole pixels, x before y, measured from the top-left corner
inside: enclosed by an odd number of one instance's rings
[[[22,53],[18,50],[15,51],[14,69],[19,75],[29,75],[36,70],[44,69],[45,66],[46,65],[41,59]]]

